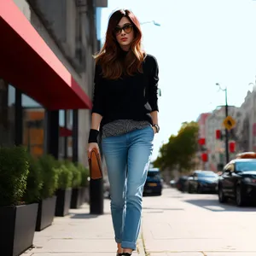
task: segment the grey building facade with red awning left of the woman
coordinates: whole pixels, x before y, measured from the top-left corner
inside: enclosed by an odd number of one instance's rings
[[[108,1],[0,1],[0,145],[87,163],[99,49],[97,9]]]

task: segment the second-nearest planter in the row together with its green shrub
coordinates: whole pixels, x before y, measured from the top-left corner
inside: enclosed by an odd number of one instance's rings
[[[57,161],[52,155],[45,154],[34,160],[34,172],[41,172],[42,188],[38,197],[38,218],[36,231],[44,230],[53,223],[55,217],[56,195],[58,188],[58,173],[55,169]]]

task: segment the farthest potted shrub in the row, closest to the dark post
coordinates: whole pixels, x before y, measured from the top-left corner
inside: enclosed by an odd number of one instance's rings
[[[82,183],[82,173],[80,169],[75,166],[72,162],[67,163],[69,166],[69,170],[73,172],[73,179],[72,179],[72,196],[70,202],[70,208],[77,209],[81,206],[81,183]]]

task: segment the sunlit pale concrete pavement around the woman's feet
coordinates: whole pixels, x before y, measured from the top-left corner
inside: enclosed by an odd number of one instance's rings
[[[134,256],[256,256],[256,208],[218,203],[217,195],[189,195],[164,189],[143,198],[143,241]],[[116,245],[109,201],[105,214],[89,206],[55,218],[36,232],[34,248],[22,256],[112,256]],[[144,248],[146,253],[144,253]]]

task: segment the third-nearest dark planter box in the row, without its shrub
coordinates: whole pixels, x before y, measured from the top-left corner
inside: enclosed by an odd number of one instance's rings
[[[55,216],[64,217],[70,209],[72,189],[58,189],[56,191]]]

